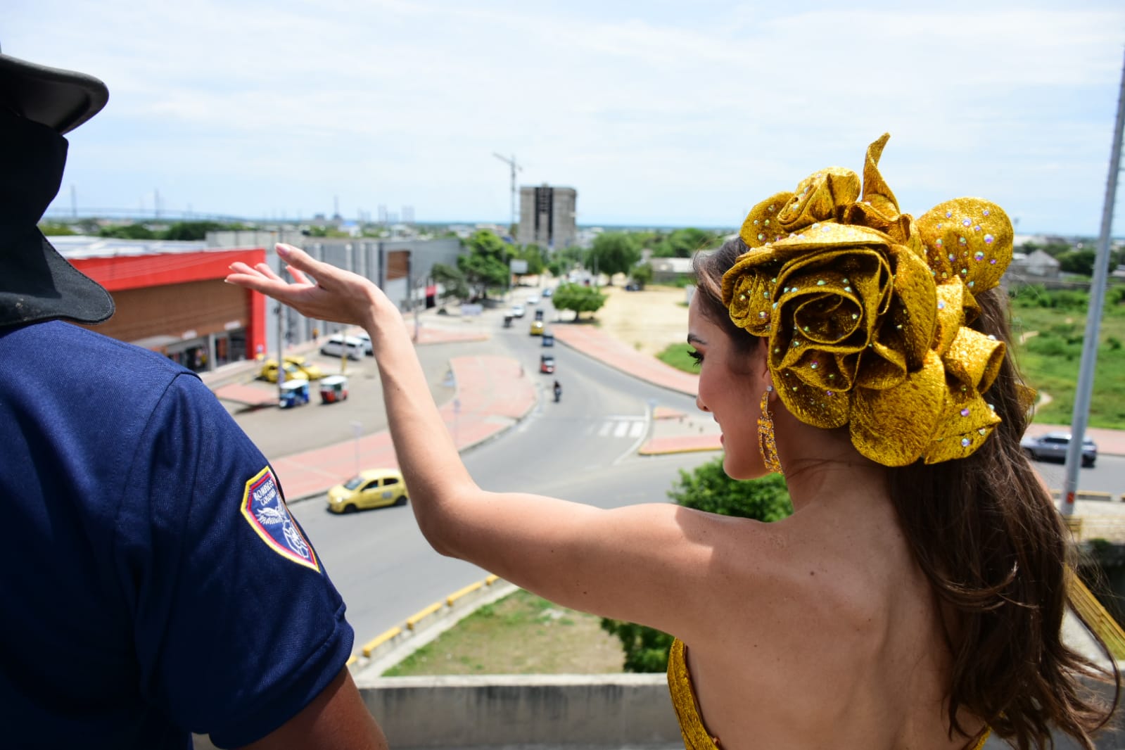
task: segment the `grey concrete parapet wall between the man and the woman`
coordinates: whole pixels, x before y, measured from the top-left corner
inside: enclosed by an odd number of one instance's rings
[[[357,678],[390,747],[683,747],[664,675]]]

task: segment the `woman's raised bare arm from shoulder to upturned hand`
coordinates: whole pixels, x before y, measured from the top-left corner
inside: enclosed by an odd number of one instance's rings
[[[723,554],[716,546],[731,537],[722,530],[754,522],[666,503],[605,510],[482,490],[461,462],[390,300],[371,281],[296,247],[279,245],[278,253],[294,282],[264,264],[251,269],[242,263],[232,266],[227,281],[308,317],[368,331],[414,514],[436,551],[566,606],[670,632],[690,629],[687,613],[693,607],[685,597],[703,596],[708,569]]]

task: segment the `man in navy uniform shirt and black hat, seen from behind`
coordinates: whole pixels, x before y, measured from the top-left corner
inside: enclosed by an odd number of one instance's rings
[[[192,372],[64,322],[114,313],[37,228],[107,99],[0,53],[0,744],[385,748],[266,458]]]

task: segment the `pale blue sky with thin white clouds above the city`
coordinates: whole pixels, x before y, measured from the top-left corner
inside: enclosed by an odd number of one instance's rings
[[[737,227],[889,132],[902,211],[1097,236],[1125,3],[901,4],[6,0],[0,48],[109,87],[48,216],[506,224],[501,154],[580,226]]]

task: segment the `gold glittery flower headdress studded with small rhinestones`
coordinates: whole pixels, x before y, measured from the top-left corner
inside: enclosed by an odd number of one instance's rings
[[[1011,222],[978,198],[900,214],[879,172],[889,138],[867,147],[862,191],[830,168],[755,206],[722,295],[736,325],[768,338],[798,419],[848,425],[884,466],[937,463],[970,455],[1000,423],[982,394],[1005,345],[966,324],[1011,260]]]

